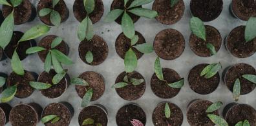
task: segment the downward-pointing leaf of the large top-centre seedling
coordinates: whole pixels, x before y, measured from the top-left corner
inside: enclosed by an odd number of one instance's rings
[[[122,17],[122,30],[125,36],[129,39],[133,39],[135,35],[133,19],[124,12]]]

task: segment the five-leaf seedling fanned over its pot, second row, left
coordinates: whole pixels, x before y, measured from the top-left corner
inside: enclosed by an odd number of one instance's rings
[[[58,49],[54,49],[56,48],[56,46],[61,44],[61,42],[62,42],[61,37],[56,37],[54,40],[52,40],[52,44],[50,46],[51,49],[48,50],[47,57],[45,58],[45,64],[44,64],[44,68],[45,68],[45,71],[47,71],[47,73],[49,73],[50,68],[52,66],[54,67],[54,70],[56,71],[56,73],[62,73],[63,68],[61,64],[66,64],[66,65],[74,64],[69,57],[61,53],[61,51],[59,51]],[[45,51],[45,50],[47,49],[42,48],[40,46],[36,46],[36,47],[28,48],[26,53],[32,54],[32,53],[37,53],[39,51]]]

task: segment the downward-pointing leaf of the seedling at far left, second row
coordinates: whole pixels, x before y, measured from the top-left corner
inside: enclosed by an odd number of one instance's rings
[[[16,50],[14,51],[14,54],[12,55],[12,60],[11,60],[11,66],[12,70],[17,74],[17,75],[24,75],[25,71],[23,69],[23,65],[21,63],[21,60],[19,59],[19,55],[17,55]]]

